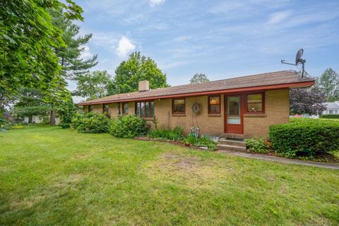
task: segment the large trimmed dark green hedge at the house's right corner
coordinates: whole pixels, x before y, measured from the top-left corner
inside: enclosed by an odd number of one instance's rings
[[[270,126],[273,149],[285,157],[300,153],[313,156],[339,150],[339,121],[326,119],[298,119],[290,124]]]

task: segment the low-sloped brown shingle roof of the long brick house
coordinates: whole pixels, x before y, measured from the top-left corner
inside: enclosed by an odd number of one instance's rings
[[[177,85],[167,88],[157,88],[155,90],[150,90],[146,92],[133,92],[133,93],[121,93],[119,95],[112,95],[108,97],[102,97],[96,100],[90,100],[86,102],[81,102],[78,105],[89,105],[95,103],[105,103],[105,102],[122,102],[122,101],[134,101],[134,100],[145,100],[145,99],[157,99],[161,97],[174,97],[175,95],[180,96],[189,96],[189,95],[199,95],[204,92],[213,92],[215,91],[225,91],[225,90],[234,90],[237,89],[242,90],[242,88],[249,88],[247,90],[256,90],[263,86],[271,86],[271,85],[280,85],[280,84],[290,84],[291,86],[286,87],[297,87],[298,85],[295,83],[314,82],[314,78],[304,77],[301,78],[299,73],[295,71],[276,71],[270,73],[261,73],[257,75],[251,76],[242,76],[237,78],[227,78],[218,81],[210,81],[206,83],[200,84],[189,84],[189,85]],[[307,83],[307,86],[312,84]],[[256,88],[256,89],[255,89]],[[268,87],[263,88],[268,89]]]

